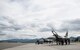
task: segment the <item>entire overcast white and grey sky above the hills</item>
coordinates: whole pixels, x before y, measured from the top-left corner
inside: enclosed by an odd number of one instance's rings
[[[0,0],[0,39],[80,35],[80,0]]]

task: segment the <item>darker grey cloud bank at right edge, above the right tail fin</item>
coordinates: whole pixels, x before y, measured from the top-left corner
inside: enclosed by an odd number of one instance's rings
[[[80,19],[75,19],[75,20],[70,20],[70,21],[65,21],[61,25],[61,31],[80,31]]]

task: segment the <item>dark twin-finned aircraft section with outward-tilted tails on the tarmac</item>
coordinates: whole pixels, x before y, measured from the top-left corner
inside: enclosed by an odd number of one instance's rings
[[[70,38],[68,38],[68,32],[66,32],[66,35],[64,36],[64,38],[62,38],[61,36],[59,36],[55,31],[52,31],[53,36],[55,36],[56,38],[56,44],[57,45],[64,45],[64,43],[70,44]]]

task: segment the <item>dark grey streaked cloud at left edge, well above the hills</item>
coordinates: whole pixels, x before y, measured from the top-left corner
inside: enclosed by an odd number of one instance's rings
[[[21,27],[14,22],[13,19],[9,19],[9,17],[0,16],[0,29],[14,29],[19,30]]]

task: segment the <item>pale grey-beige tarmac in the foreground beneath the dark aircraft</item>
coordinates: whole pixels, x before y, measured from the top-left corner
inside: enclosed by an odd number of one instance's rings
[[[80,50],[80,43],[72,43],[71,45],[55,45],[55,44],[25,44],[17,47],[6,48],[3,50]]]

